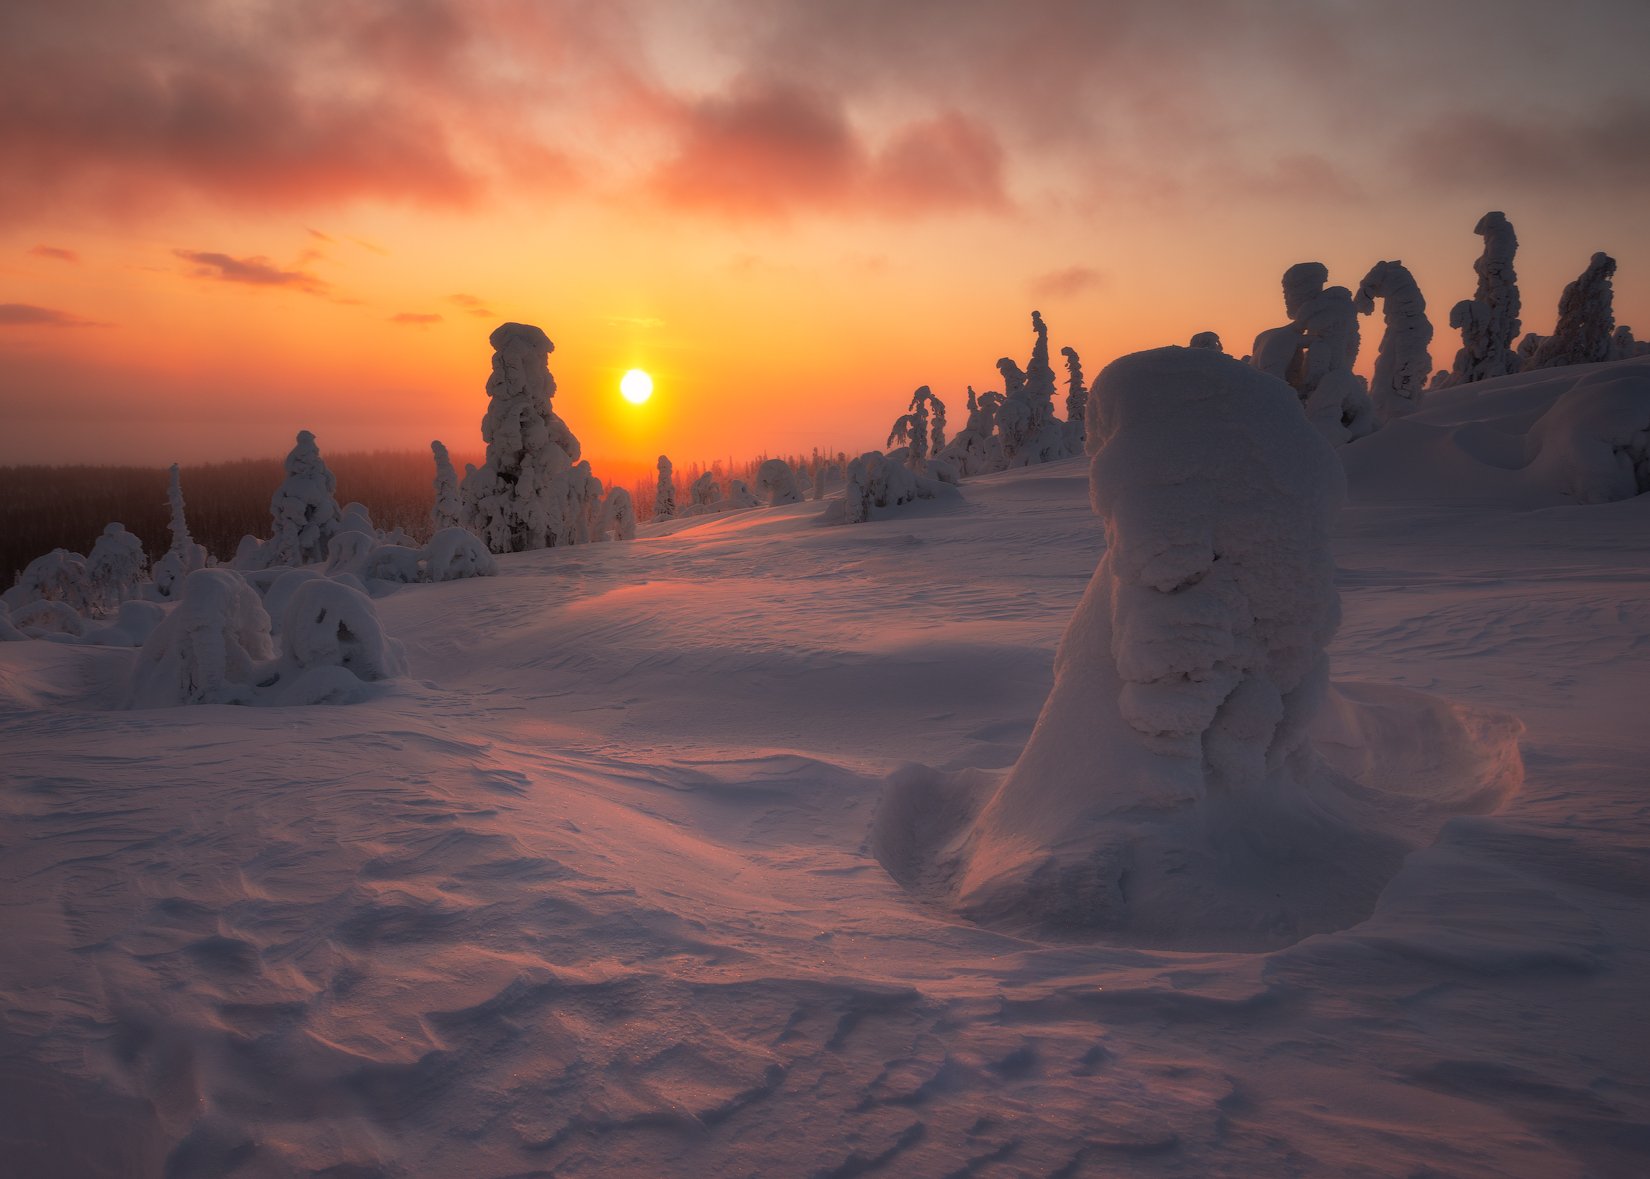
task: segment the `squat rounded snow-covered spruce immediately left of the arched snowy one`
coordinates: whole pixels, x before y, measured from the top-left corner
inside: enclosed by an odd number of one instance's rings
[[[137,655],[129,707],[249,704],[272,655],[269,613],[246,579],[196,569]]]

